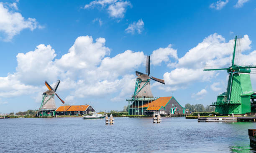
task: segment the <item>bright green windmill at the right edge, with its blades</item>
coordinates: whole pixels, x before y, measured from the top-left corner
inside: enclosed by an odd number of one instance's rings
[[[226,92],[218,95],[212,103],[220,114],[246,114],[256,112],[256,93],[252,90],[250,74],[256,73],[256,65],[239,64],[241,36],[235,36],[231,66],[205,65],[204,71],[227,70],[229,74]]]

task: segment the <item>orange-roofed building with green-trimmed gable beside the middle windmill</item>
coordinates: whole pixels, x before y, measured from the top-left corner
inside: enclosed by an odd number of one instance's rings
[[[172,97],[159,97],[148,104],[145,111],[146,114],[185,114],[185,108],[182,107],[178,101]]]

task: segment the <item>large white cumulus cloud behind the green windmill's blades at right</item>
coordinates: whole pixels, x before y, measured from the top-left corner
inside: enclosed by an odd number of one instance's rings
[[[212,79],[216,76],[216,72],[203,72],[204,65],[229,65],[233,41],[231,39],[225,42],[225,38],[218,34],[206,37],[196,47],[190,49],[183,57],[178,59],[174,70],[164,74],[166,86],[161,86],[160,88],[172,91],[179,88],[187,88],[194,81]],[[248,35],[244,35],[241,41],[241,52],[251,49],[251,40]],[[242,55],[242,60],[247,60],[245,58]]]

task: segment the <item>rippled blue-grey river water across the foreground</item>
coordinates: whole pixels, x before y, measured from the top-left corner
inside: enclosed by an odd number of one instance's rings
[[[247,153],[253,122],[198,123],[184,117],[0,119],[0,152],[8,153]]]

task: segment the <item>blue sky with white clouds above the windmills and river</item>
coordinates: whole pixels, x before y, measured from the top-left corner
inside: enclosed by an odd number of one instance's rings
[[[253,0],[13,0],[0,2],[0,17],[2,113],[37,109],[44,80],[57,79],[67,104],[122,110],[146,55],[166,81],[151,81],[154,96],[210,105],[227,73],[203,66],[229,64],[234,35],[243,37],[241,64],[256,64]]]

